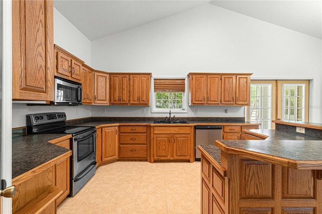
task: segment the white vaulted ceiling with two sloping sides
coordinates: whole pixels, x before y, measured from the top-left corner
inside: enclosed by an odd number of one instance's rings
[[[76,1],[54,0],[54,7],[93,41],[204,4],[322,39],[321,0],[305,1]]]

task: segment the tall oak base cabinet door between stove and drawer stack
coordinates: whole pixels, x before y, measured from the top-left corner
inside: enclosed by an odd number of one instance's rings
[[[102,128],[102,162],[117,160],[118,137],[117,127]]]

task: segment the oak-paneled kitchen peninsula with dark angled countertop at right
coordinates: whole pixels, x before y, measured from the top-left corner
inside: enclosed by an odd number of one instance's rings
[[[198,147],[201,213],[322,213],[322,124],[273,122],[246,131],[266,140]]]

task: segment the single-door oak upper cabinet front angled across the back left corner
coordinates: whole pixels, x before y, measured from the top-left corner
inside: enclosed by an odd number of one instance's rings
[[[94,72],[94,103],[109,103],[109,74]]]

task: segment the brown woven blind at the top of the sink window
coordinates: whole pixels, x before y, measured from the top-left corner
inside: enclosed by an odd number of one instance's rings
[[[185,92],[185,79],[154,79],[154,92]]]

